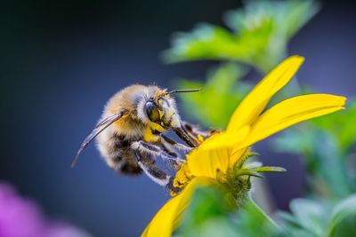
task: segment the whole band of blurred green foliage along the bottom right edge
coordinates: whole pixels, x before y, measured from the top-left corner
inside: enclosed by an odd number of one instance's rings
[[[198,188],[174,236],[347,237],[356,233],[356,195],[338,201],[298,198],[290,213],[279,211],[277,225],[249,197],[231,211],[216,187]]]

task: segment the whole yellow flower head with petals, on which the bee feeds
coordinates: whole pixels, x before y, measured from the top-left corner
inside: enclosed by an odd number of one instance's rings
[[[227,130],[207,138],[187,155],[187,162],[174,179],[174,186],[182,188],[182,192],[166,202],[142,236],[171,236],[195,189],[228,182],[229,171],[244,162],[249,146],[295,123],[344,109],[344,97],[309,94],[286,99],[263,112],[271,97],[290,81],[302,63],[300,56],[281,62],[239,104]]]

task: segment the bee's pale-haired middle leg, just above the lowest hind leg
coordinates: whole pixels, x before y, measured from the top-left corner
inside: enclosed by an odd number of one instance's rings
[[[133,142],[131,148],[135,151],[138,150],[140,152],[145,152],[155,156],[161,156],[164,161],[174,165],[179,165],[180,163],[185,162],[184,160],[178,158],[178,155],[174,152],[166,152],[163,148],[142,140]]]

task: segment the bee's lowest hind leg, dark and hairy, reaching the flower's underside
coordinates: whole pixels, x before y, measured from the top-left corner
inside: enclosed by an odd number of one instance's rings
[[[165,171],[160,170],[155,165],[148,165],[142,162],[142,154],[139,150],[134,152],[134,156],[141,169],[153,182],[157,183],[159,186],[166,186],[166,188],[173,190],[175,193],[179,193],[181,191],[173,186],[174,177],[167,175]]]

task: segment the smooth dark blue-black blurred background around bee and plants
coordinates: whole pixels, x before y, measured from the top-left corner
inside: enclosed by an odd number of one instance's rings
[[[137,236],[166,192],[144,176],[117,176],[94,146],[74,170],[70,161],[120,88],[153,82],[167,87],[177,75],[204,78],[211,62],[166,66],[158,54],[173,32],[199,21],[223,24],[222,13],[237,6],[220,0],[2,3],[0,180],[38,201],[51,217],[95,236]],[[355,20],[349,2],[324,2],[290,43],[290,54],[306,58],[301,83],[318,92],[355,94]],[[259,146],[265,150],[268,142]],[[268,177],[280,209],[303,192],[297,158],[263,157],[288,170]]]

